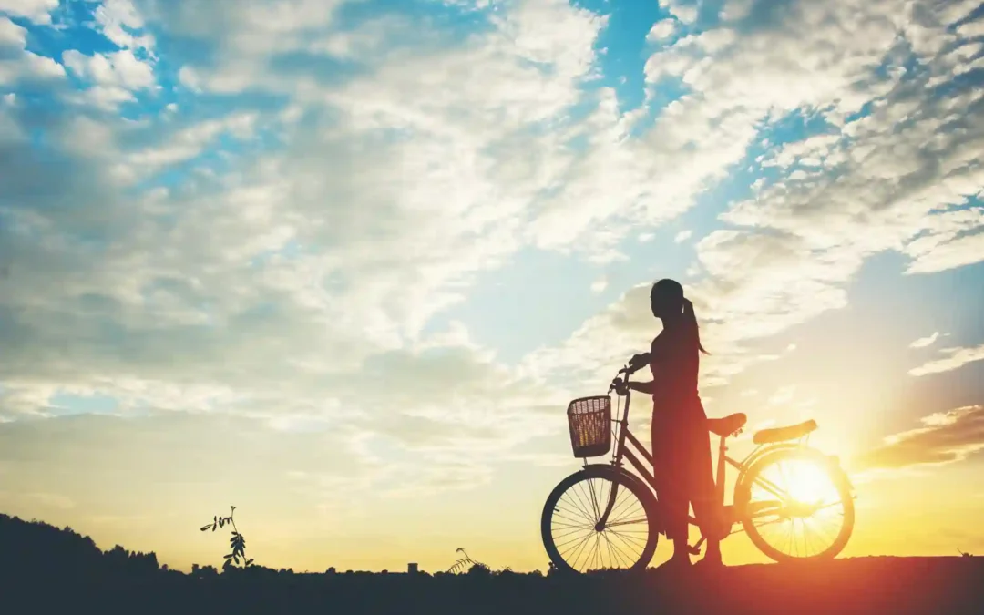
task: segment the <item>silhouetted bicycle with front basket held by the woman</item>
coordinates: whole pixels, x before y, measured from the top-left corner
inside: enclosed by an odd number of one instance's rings
[[[619,370],[618,376],[624,374],[628,382],[640,367],[626,366]],[[626,390],[621,419],[613,419],[611,392],[614,389],[613,382],[607,396],[580,398],[568,405],[572,448],[576,458],[583,458],[584,467],[554,487],[540,518],[543,545],[560,572],[586,573],[588,569],[584,567],[593,565],[597,566],[590,570],[645,570],[655,553],[659,534],[664,533],[657,481],[650,471],[652,457],[629,430],[631,392]],[[809,436],[817,429],[817,422],[810,419],[796,425],[758,431],[752,438],[755,450],[742,461],[736,461],[725,454],[728,450],[725,441],[742,433],[747,420],[743,413],[707,419],[708,432],[719,437],[716,497],[726,514],[726,527],[719,537],[744,530],[762,553],[780,563],[836,557],[854,529],[854,487],[836,457],[810,447]],[[602,457],[611,451],[613,437],[616,446],[612,460],[588,463],[588,458]],[[647,466],[628,444],[633,445]],[[624,467],[623,460],[629,461],[638,474]],[[767,470],[779,467],[780,476],[785,479],[787,473],[782,469],[785,463],[793,464],[788,475],[795,480],[790,488],[782,489],[766,474]],[[798,467],[797,463],[800,464]],[[738,470],[731,506],[724,506],[727,465]],[[597,493],[596,482],[601,485]],[[610,485],[607,492],[606,485]],[[772,499],[756,500],[755,488],[761,488]],[[622,498],[626,494],[627,497]],[[562,507],[565,496],[570,496],[569,507]],[[825,504],[825,498],[818,500],[820,496],[835,496],[836,501]],[[839,513],[833,519],[839,520],[839,528],[832,534],[830,544],[818,552],[807,553],[807,530],[811,529],[807,520],[838,506]],[[800,541],[795,537],[784,541],[787,547],[795,548],[795,554],[791,554],[769,542],[763,532],[764,527],[776,523],[788,523],[795,530],[797,521],[803,526],[803,555],[800,555]],[[698,524],[691,515],[688,515],[688,523]],[[735,525],[740,527],[735,529]],[[584,530],[584,536],[576,535],[578,530]],[[815,533],[830,537],[827,533]],[[690,552],[699,554],[706,539],[707,536],[702,535],[695,545],[689,546]],[[593,551],[588,555],[592,546]],[[636,550],[638,554],[633,557],[631,553]],[[573,557],[573,562],[568,561],[566,554]],[[584,562],[579,565],[583,558]]]

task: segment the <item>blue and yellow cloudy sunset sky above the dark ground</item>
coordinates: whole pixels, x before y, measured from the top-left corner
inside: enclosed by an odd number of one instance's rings
[[[982,69],[966,1],[0,0],[0,511],[545,570],[673,277],[730,453],[850,472],[844,556],[984,552]]]

